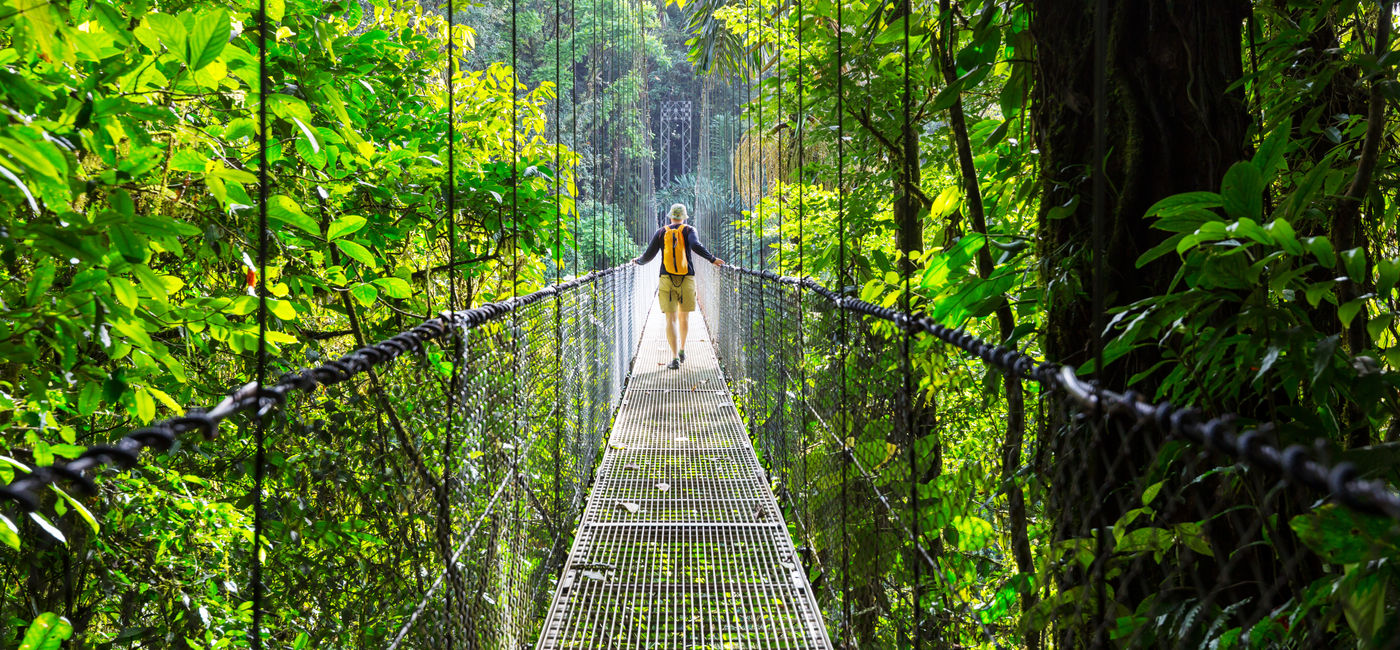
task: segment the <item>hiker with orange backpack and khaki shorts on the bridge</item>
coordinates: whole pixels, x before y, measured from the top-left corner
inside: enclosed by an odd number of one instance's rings
[[[696,268],[690,262],[690,251],[700,254],[715,266],[724,266],[724,261],[715,258],[700,245],[693,226],[686,226],[686,206],[676,203],[671,206],[671,223],[657,228],[651,235],[647,252],[633,259],[634,265],[651,262],[651,258],[661,255],[661,311],[666,315],[666,340],[671,343],[671,370],[680,367],[686,360],[686,333],[690,331],[690,312],[696,311]],[[680,336],[676,336],[676,328]],[[676,346],[679,340],[679,347]]]

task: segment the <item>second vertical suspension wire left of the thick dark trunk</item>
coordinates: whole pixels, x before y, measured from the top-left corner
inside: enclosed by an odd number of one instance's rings
[[[848,354],[848,326],[846,305],[846,77],[841,74],[841,64],[846,57],[844,52],[844,29],[846,29],[846,15],[844,15],[846,0],[836,0],[836,238],[837,238],[837,252],[836,252],[836,277],[837,286],[836,291],[839,296],[837,308],[840,311],[840,381],[841,381],[841,408],[839,412],[840,417],[840,443],[841,443],[841,616],[846,632],[846,643],[854,644],[853,629],[851,629],[851,535],[850,535],[850,503],[848,503],[848,483],[850,483],[850,469],[851,469],[851,447],[846,443],[847,429],[850,427],[850,402],[846,387],[846,361]]]

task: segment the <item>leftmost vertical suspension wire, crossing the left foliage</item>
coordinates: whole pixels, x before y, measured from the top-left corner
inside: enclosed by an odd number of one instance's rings
[[[253,622],[252,649],[262,650],[263,618],[263,464],[267,457],[267,422],[263,417],[262,389],[267,382],[267,0],[258,3],[258,398],[259,409],[255,422],[253,451],[253,544],[252,544],[252,591]]]

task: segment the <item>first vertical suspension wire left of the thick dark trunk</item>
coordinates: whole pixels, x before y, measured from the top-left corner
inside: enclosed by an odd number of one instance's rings
[[[907,212],[913,207],[911,206],[911,198],[914,196],[914,186],[913,186],[913,182],[914,182],[914,168],[913,168],[913,165],[918,164],[918,161],[914,158],[914,143],[917,141],[918,134],[914,133],[913,116],[911,116],[910,109],[909,109],[910,102],[913,101],[909,74],[910,74],[910,67],[914,64],[914,62],[913,62],[913,50],[910,49],[910,43],[909,43],[909,27],[910,27],[909,24],[913,22],[913,20],[914,20],[914,7],[913,7],[913,3],[910,0],[904,0],[904,78],[903,78],[903,83],[904,83],[903,95],[904,97],[903,97],[903,101],[902,101],[902,108],[903,108],[903,112],[904,112],[904,115],[903,115],[903,118],[904,118],[904,151],[903,151],[904,161],[903,162],[904,162],[904,184],[906,184],[906,188],[903,189],[903,193],[904,193],[904,202],[906,202],[906,206],[904,206],[906,219],[909,219],[909,213]],[[916,217],[917,217],[917,212],[916,212]],[[895,241],[899,241],[899,234],[897,234],[899,230],[897,228],[902,228],[903,224],[895,224],[895,227],[896,227]],[[923,231],[923,228],[920,228],[920,231]],[[923,248],[923,242],[920,242],[920,248]],[[910,290],[911,290],[911,287],[910,287],[910,277],[914,275],[914,261],[913,259],[906,261],[902,265],[902,270],[904,272],[904,277],[903,277],[903,280],[904,280],[903,311],[904,311],[904,314],[913,314],[913,310],[911,310],[911,307],[913,307],[913,296],[910,296]],[[910,347],[911,347],[911,340],[913,340],[914,333],[907,326],[903,328],[903,331],[904,331],[904,336],[903,336],[903,350],[900,350],[902,352],[902,354],[900,354],[902,363],[900,363],[900,366],[902,366],[902,370],[904,373],[904,403],[903,403],[903,406],[904,406],[904,436],[909,437],[909,511],[910,511],[910,517],[909,518],[910,518],[910,523],[913,525],[913,532],[911,532],[911,535],[914,538],[913,542],[914,542],[914,546],[917,548],[917,546],[920,546],[923,544],[921,542],[923,538],[920,535],[920,521],[918,521],[920,520],[920,517],[918,517],[918,483],[920,483],[920,473],[918,473],[918,451],[916,450],[917,441],[918,441],[918,436],[916,436],[916,433],[914,433],[914,401],[916,401],[914,385],[913,385],[914,384],[913,382],[914,368],[913,368],[913,360],[910,357],[910,353],[911,353]],[[911,601],[911,605],[913,605],[910,608],[910,611],[914,614],[914,621],[913,621],[913,628],[914,628],[913,637],[914,639],[913,639],[913,642],[914,642],[914,650],[921,650],[924,647],[923,626],[920,625],[923,609],[921,609],[921,607],[918,604],[918,601],[920,601],[918,580],[921,577],[920,576],[921,567],[920,567],[918,562],[911,562],[910,565],[913,566],[913,580],[910,581],[910,584],[911,584],[910,601]]]

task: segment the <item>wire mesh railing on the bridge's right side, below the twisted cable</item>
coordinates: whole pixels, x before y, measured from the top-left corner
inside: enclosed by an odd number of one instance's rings
[[[1396,646],[1400,499],[1355,465],[811,279],[700,287],[837,647]]]

